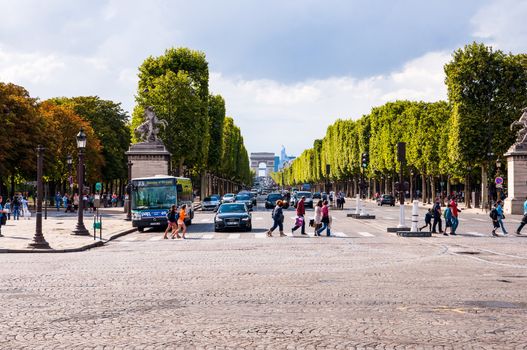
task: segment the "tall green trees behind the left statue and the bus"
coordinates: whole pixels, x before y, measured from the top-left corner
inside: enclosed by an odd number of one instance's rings
[[[149,57],[139,67],[132,130],[152,106],[166,127],[160,138],[172,153],[178,175],[206,173],[237,183],[250,184],[249,156],[240,129],[225,115],[225,101],[209,93],[205,54],[187,48],[171,48]],[[133,140],[138,141],[137,135]]]

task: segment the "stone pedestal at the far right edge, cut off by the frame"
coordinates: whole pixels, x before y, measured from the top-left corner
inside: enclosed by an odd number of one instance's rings
[[[507,153],[507,193],[505,213],[523,215],[527,196],[527,144],[515,144]]]

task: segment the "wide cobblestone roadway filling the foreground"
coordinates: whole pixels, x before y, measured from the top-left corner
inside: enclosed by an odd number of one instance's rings
[[[466,214],[461,236],[401,238],[398,209],[373,210],[334,212],[333,238],[261,238],[261,211],[216,234],[198,213],[187,240],[0,255],[0,348],[527,348],[525,237]]]

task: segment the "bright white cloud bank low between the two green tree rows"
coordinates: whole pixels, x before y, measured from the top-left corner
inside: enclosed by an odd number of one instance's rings
[[[397,99],[446,99],[444,52],[428,53],[387,75],[355,79],[333,77],[294,84],[243,80],[212,73],[213,93],[225,98],[227,113],[241,127],[249,151],[298,155],[325,135],[337,118],[360,118],[372,107]]]

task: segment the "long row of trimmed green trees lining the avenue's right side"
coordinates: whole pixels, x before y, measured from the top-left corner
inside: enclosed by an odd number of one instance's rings
[[[275,181],[344,181],[361,172],[371,179],[394,177],[397,143],[406,142],[405,171],[421,175],[423,189],[427,178],[464,181],[477,174],[485,198],[489,167],[514,143],[510,125],[527,106],[527,55],[473,43],[454,52],[445,73],[448,102],[389,102],[360,119],[337,120]],[[363,153],[369,158],[365,168]]]

